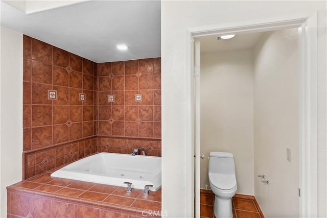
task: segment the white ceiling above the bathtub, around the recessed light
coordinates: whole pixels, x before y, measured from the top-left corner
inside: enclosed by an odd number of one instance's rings
[[[133,60],[160,57],[160,10],[160,1],[87,1],[26,14],[1,2],[1,25],[97,63]]]

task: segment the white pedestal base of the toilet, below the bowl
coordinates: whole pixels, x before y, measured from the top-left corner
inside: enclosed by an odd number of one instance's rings
[[[219,198],[215,196],[215,203],[214,203],[214,213],[217,218],[232,218],[232,206],[231,206],[231,198]]]

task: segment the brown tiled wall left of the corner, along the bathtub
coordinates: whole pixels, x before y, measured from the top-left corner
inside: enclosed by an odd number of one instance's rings
[[[26,179],[97,151],[97,64],[25,35],[23,53]]]

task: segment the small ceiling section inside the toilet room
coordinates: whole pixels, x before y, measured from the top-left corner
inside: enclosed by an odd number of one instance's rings
[[[261,35],[262,32],[244,33],[236,35],[231,39],[220,40],[217,40],[217,36],[201,37],[198,39],[200,41],[200,53],[252,49]]]

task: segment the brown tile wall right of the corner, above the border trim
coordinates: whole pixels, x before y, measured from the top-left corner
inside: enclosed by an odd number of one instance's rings
[[[160,58],[98,63],[98,84],[98,136],[161,138]]]

